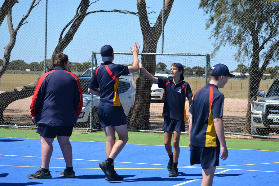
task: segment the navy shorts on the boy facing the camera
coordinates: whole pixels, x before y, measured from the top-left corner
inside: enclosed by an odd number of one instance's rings
[[[185,122],[165,117],[162,131],[185,132]]]

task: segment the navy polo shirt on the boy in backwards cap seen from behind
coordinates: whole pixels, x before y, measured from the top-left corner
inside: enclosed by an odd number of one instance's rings
[[[100,105],[120,106],[117,93],[119,77],[127,74],[129,74],[128,66],[113,64],[110,61],[101,63],[95,69],[88,88],[95,91],[100,87]]]

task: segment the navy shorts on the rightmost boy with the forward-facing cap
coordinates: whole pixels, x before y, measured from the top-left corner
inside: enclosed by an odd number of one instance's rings
[[[191,165],[201,164],[201,168],[203,169],[209,169],[215,166],[219,166],[219,156],[219,147],[198,147],[191,145]]]

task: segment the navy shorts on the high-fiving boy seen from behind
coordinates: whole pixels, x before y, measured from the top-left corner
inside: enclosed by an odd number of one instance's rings
[[[126,125],[126,115],[121,106],[98,106],[98,118],[102,127]]]

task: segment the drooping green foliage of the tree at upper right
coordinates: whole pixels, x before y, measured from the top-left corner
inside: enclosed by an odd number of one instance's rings
[[[262,52],[259,60],[275,59],[278,54],[279,2],[276,0],[201,0],[209,18],[206,29],[214,26],[214,56],[226,44],[237,47],[236,60],[244,62],[253,52]],[[275,46],[276,45],[276,46]]]

